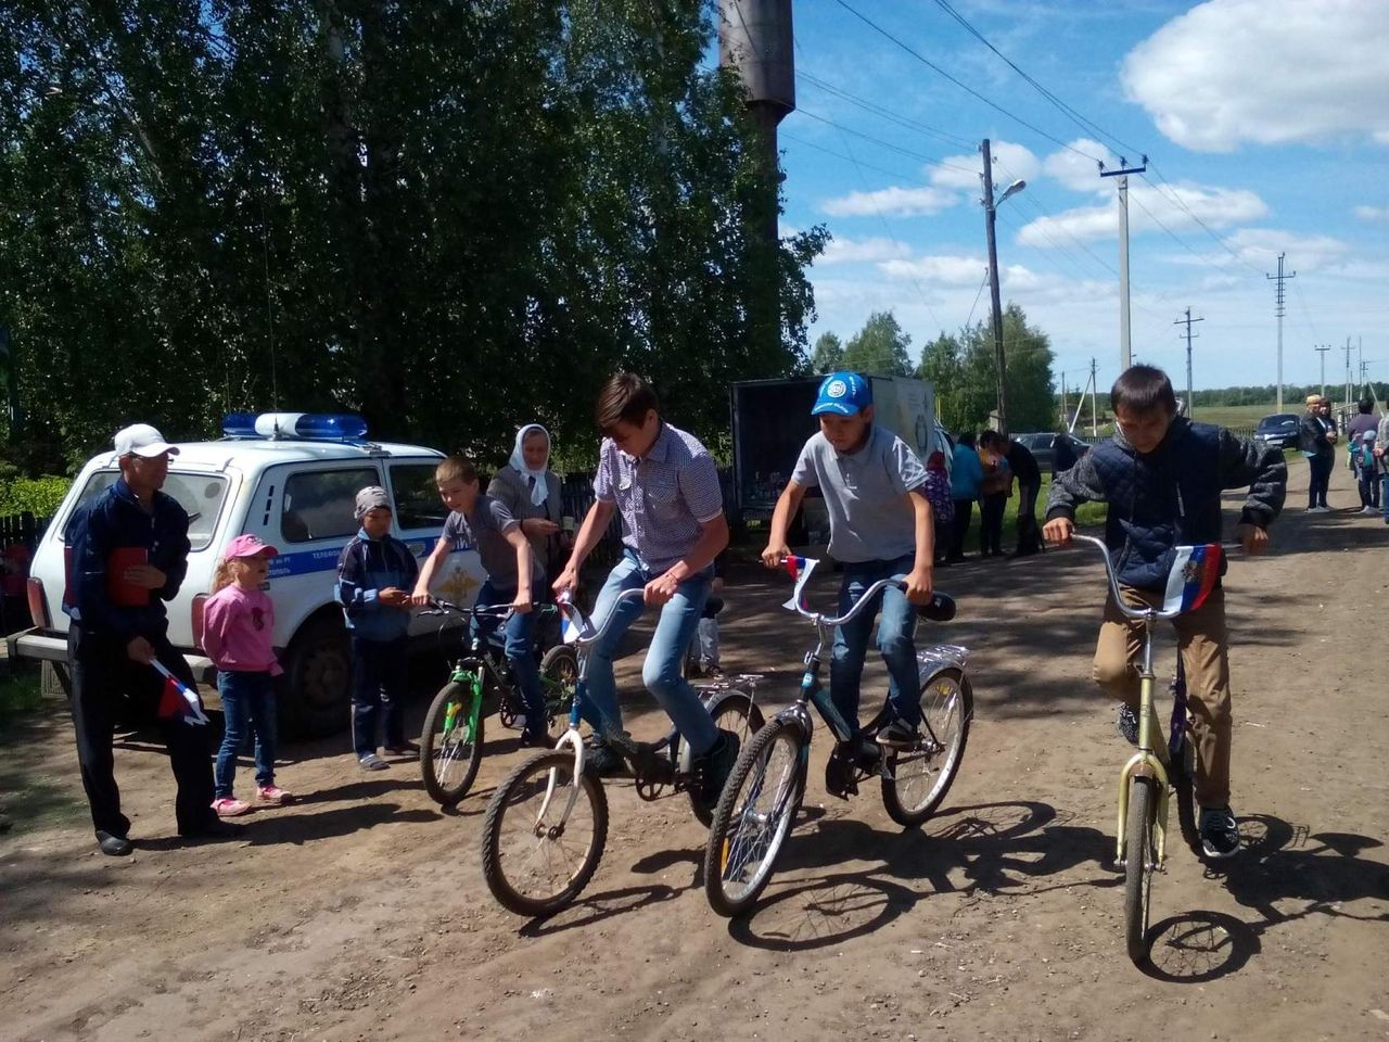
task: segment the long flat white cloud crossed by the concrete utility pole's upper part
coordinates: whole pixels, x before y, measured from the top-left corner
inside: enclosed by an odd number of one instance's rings
[[[1174,200],[1179,199],[1185,207]],[[1149,217],[1149,213],[1153,217]],[[1195,217],[1193,217],[1195,214]],[[1264,200],[1246,189],[1200,188],[1193,185],[1151,185],[1129,182],[1129,233],[1161,232],[1161,221],[1172,232],[1197,226],[1199,217],[1210,228],[1229,228],[1256,221],[1268,214]],[[1157,218],[1154,221],[1153,218]],[[1060,214],[1039,217],[1022,226],[1018,242],[1024,246],[1050,246],[1060,236],[1074,239],[1114,239],[1118,236],[1117,203],[1110,199],[1099,206],[1076,207]]]

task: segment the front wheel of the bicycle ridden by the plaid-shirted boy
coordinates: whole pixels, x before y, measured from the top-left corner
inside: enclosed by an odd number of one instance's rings
[[[606,842],[603,784],[588,772],[575,778],[567,747],[540,753],[511,771],[488,804],[482,875],[503,907],[553,916],[588,886]]]

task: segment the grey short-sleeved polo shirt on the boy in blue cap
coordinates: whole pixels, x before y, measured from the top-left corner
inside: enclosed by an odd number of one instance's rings
[[[925,488],[926,468],[892,431],[874,424],[868,443],[847,456],[817,433],[790,477],[825,496],[835,560],[892,561],[917,552],[917,517],[901,497]]]

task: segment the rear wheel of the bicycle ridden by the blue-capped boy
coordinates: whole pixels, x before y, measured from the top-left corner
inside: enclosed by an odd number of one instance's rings
[[[974,718],[974,690],[963,670],[943,670],[921,688],[921,741],[889,749],[882,778],[888,817],[904,828],[929,818],[950,791]]]

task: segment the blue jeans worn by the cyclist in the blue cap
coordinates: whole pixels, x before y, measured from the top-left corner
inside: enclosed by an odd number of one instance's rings
[[[915,563],[914,554],[895,561],[860,561],[845,565],[845,581],[839,588],[839,614],[858,603],[863,592],[879,579],[904,579]],[[878,650],[888,663],[888,702],[908,724],[921,722],[921,700],[917,692],[917,610],[907,595],[895,586],[882,592],[882,622],[878,625]],[[829,697],[846,722],[858,729],[858,685],[863,681],[864,659],[868,656],[868,635],[878,614],[872,606],[835,629],[835,652],[829,660]]]

